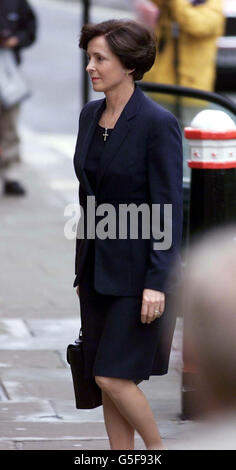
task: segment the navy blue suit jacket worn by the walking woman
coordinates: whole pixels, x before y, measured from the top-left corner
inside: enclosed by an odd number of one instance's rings
[[[153,250],[152,232],[142,238],[139,220],[137,239],[100,239],[95,237],[94,288],[117,296],[142,295],[144,288],[172,293],[176,288],[175,272],[182,239],[182,138],[176,118],[145,96],[135,85],[112,134],[105,144],[93,193],[85,160],[95,127],[105,109],[106,99],[91,101],[81,111],[74,166],[80,182],[79,202],[86,216],[87,196],[96,204],[146,203],[172,204],[172,246]],[[86,218],[86,217],[85,217]],[[99,217],[96,217],[96,223]],[[129,233],[129,232],[128,232]],[[90,240],[76,240],[74,287],[83,276]]]

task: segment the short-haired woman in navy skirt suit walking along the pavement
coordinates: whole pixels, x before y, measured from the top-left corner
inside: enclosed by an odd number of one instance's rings
[[[93,89],[105,94],[83,107],[74,156],[87,221],[84,238],[77,238],[74,282],[86,374],[101,388],[111,449],[134,449],[135,430],[147,449],[163,449],[137,384],[168,372],[176,320],[170,304],[178,281],[172,267],[182,233],[181,132],[175,117],[135,83],[155,60],[156,40],[147,28],[131,20],[87,24],[80,47],[87,52]],[[102,204],[114,209],[115,231],[107,236],[96,230],[91,236],[92,218],[87,216],[92,196],[97,229],[104,224]],[[119,236],[119,209],[130,204],[137,217],[134,222],[131,214],[127,236]],[[171,243],[165,248],[154,248],[152,230],[143,236],[147,224],[138,208],[145,206],[151,215],[154,204],[160,208],[164,238],[164,206],[172,208]],[[136,237],[130,236],[134,227]]]

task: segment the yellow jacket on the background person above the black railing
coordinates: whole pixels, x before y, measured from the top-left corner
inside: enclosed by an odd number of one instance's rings
[[[146,82],[214,90],[223,0],[152,0],[159,8],[158,53]]]

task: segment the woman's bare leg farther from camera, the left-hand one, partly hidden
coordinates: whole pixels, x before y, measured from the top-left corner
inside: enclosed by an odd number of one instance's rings
[[[118,411],[109,395],[102,391],[104,421],[112,450],[134,449],[134,428]]]

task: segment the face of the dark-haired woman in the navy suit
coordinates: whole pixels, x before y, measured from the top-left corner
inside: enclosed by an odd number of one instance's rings
[[[104,36],[95,37],[88,42],[87,56],[89,63],[86,70],[95,91],[106,93],[130,82],[131,77],[127,77],[127,70],[110,50]]]

